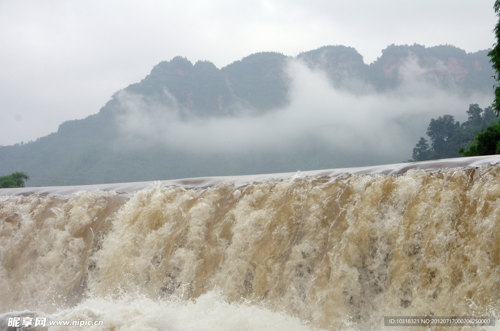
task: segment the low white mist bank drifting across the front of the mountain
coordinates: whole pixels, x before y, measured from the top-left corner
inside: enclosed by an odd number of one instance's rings
[[[120,145],[162,143],[193,153],[234,153],[313,143],[401,161],[411,156],[430,118],[451,114],[463,121],[469,103],[485,107],[491,102],[491,95],[463,96],[440,86],[439,79],[411,56],[401,67],[399,87],[377,93],[355,80],[346,84],[349,89],[334,88],[323,71],[290,60],[290,103],[264,114],[247,109],[226,117],[194,117],[166,90],[168,105],[123,90],[117,96],[124,109],[117,119]]]

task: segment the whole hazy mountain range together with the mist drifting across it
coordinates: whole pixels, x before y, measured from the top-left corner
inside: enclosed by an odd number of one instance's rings
[[[366,64],[337,45],[254,53],[220,69],[177,56],[98,113],[0,146],[0,169],[57,185],[400,162],[431,117],[463,120],[469,103],[491,102],[487,51],[390,45]]]

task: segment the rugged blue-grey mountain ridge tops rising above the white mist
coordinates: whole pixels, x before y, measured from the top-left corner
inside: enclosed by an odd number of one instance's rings
[[[487,52],[467,53],[451,45],[392,44],[366,64],[354,48],[329,45],[301,52],[295,58],[325,71],[336,87],[355,78],[382,91],[400,83],[399,73],[412,56],[424,74],[438,77],[443,85],[454,84],[465,93],[492,93],[493,71]],[[265,111],[288,102],[290,81],[285,65],[291,58],[277,52],[259,52],[218,69],[210,61],[193,65],[187,58],[176,56],[156,64],[144,79],[124,90],[150,96],[161,94],[165,88],[179,105],[197,115],[222,115],[238,107]]]

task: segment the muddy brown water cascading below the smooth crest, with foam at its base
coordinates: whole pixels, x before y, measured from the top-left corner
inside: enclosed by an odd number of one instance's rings
[[[103,320],[49,328],[74,330],[498,315],[500,165],[477,171],[0,196],[0,313]]]

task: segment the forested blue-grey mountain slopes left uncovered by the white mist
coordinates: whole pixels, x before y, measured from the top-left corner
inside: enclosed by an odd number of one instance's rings
[[[451,45],[390,45],[374,62],[366,64],[354,48],[336,45],[302,52],[295,58],[324,71],[338,88],[355,88],[351,82],[356,81],[376,91],[387,91],[396,88],[409,72],[423,79],[437,79],[443,88],[467,94],[492,91],[493,72],[486,53],[466,53]],[[36,141],[0,146],[0,175],[26,172],[29,186],[284,172],[400,161],[346,154],[311,140],[293,149],[272,152],[218,153],[173,150],[158,142],[129,149],[116,142],[120,136],[117,118],[130,111],[120,101],[120,93],[140,95],[141,102],[151,107],[175,108],[181,120],[225,118],[241,111],[258,115],[290,102],[291,78],[286,70],[290,59],[293,57],[277,52],[260,52],[220,69],[210,61],[192,64],[180,56],[162,61],[140,82],[113,94],[98,113],[65,121],[57,132]],[[416,73],[415,63],[419,67]]]

